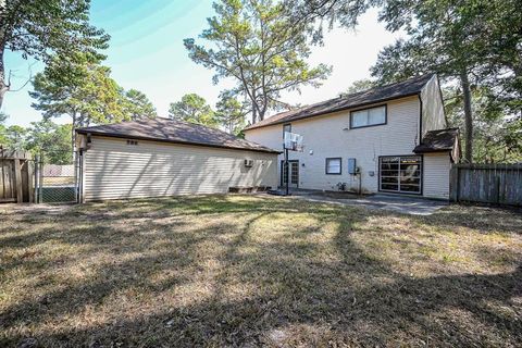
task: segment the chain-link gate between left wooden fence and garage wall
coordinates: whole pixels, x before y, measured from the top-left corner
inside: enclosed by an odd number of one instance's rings
[[[36,159],[36,202],[79,202],[82,161],[78,152],[44,150]]]

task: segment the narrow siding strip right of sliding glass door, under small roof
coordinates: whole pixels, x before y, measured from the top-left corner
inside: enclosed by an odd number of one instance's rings
[[[449,198],[449,152],[424,154],[423,191],[430,198]]]

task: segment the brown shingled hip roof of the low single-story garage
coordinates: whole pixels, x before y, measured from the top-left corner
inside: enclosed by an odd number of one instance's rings
[[[90,133],[92,135],[119,138],[156,140],[262,152],[279,152],[219,129],[163,117],[82,127],[77,128],[76,132],[79,134]]]

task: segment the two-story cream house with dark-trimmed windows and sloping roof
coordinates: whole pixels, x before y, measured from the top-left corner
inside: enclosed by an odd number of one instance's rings
[[[283,150],[284,132],[303,136],[289,151],[290,187],[448,199],[458,130],[448,129],[436,75],[341,96],[283,112],[245,129],[246,139]],[[288,173],[287,173],[288,172]]]

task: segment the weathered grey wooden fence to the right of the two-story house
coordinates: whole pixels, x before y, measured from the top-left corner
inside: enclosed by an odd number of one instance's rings
[[[456,164],[450,177],[452,201],[522,206],[522,164]]]

